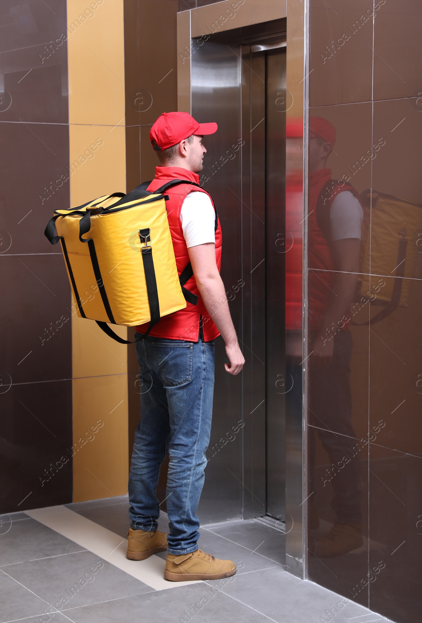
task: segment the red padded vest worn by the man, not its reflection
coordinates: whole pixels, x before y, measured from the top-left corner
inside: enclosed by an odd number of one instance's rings
[[[157,166],[155,179],[149,184],[148,190],[154,191],[172,179],[187,179],[199,184],[199,175],[192,173],[192,171],[187,171],[187,169],[181,169],[176,166]],[[169,221],[174,255],[176,256],[177,273],[179,273],[179,275],[181,275],[182,270],[184,270],[189,262],[189,254],[187,252],[181,223],[182,204],[187,194],[194,192],[205,193],[210,197],[204,189],[191,186],[190,184],[178,184],[165,191],[165,194],[170,197],[169,201],[166,201],[167,219]],[[218,271],[220,271],[221,251],[222,232],[220,221],[218,221],[217,231],[215,232],[215,260],[217,262]],[[149,335],[156,338],[166,338],[167,340],[187,340],[196,342],[199,339],[199,322],[200,316],[202,315],[204,340],[206,342],[215,340],[220,333],[218,333],[217,327],[211,320],[202,302],[195,277],[191,277],[189,281],[185,283],[185,288],[197,295],[197,305],[192,305],[192,303],[187,302],[186,307],[179,310],[179,312],[172,313],[169,316],[163,316],[154,328],[152,328]],[[145,333],[148,326],[149,323],[137,326],[136,331]]]

